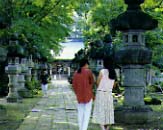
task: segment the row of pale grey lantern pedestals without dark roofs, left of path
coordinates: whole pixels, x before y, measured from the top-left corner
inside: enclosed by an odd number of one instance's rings
[[[32,69],[34,70],[33,75]],[[18,91],[20,94],[23,93],[23,97],[28,97],[30,93],[25,88],[25,82],[30,82],[32,77],[38,80],[38,70],[42,69],[48,69],[48,65],[39,64],[38,62],[34,63],[32,58],[22,58],[20,62],[18,57],[8,60],[8,66],[5,68],[9,78],[7,102],[20,101],[22,97],[18,94]]]

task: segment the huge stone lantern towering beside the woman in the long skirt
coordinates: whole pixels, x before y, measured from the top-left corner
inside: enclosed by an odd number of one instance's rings
[[[156,28],[158,22],[141,10],[144,0],[124,1],[127,11],[111,21],[112,29],[122,32],[124,44],[115,54],[125,87],[124,105],[115,110],[115,117],[117,122],[147,123],[152,109],[144,104],[145,68],[151,63],[152,51],[145,47],[144,32]]]

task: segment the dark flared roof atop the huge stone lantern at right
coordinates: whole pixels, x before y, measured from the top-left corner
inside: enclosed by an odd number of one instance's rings
[[[128,4],[127,11],[111,21],[113,30],[151,30],[158,26],[158,21],[141,10],[144,0],[124,0]]]

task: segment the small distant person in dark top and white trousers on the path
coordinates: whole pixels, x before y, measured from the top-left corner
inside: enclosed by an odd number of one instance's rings
[[[40,79],[41,79],[41,89],[42,89],[43,97],[47,97],[49,75],[46,70],[42,72]]]

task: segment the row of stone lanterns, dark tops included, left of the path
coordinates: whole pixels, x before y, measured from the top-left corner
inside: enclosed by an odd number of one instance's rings
[[[30,82],[32,77],[34,80],[38,80],[38,76],[40,74],[38,70],[49,69],[48,71],[52,74],[52,68],[47,64],[39,63],[38,61],[33,62],[32,57],[29,59],[23,58],[23,56],[19,57],[19,55],[22,55],[23,52],[21,47],[18,47],[18,44],[17,40],[10,40],[8,51],[4,47],[0,46],[0,63],[5,62],[8,58],[8,65],[5,67],[5,72],[8,74],[9,78],[9,93],[7,96],[8,102],[19,101],[22,94],[23,97],[29,97],[30,94],[25,88],[25,82]],[[34,71],[33,73],[32,70]]]

